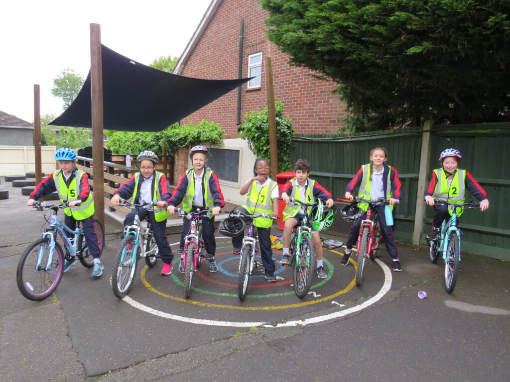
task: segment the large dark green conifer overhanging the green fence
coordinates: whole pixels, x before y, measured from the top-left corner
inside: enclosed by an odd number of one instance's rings
[[[268,37],[337,81],[351,130],[510,117],[508,0],[262,0]]]

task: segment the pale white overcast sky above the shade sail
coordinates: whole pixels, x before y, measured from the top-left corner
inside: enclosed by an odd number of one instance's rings
[[[211,0],[24,0],[2,4],[0,110],[34,120],[34,84],[41,115],[62,113],[50,93],[53,79],[70,68],[90,68],[89,24],[101,25],[101,43],[142,64],[180,57]]]

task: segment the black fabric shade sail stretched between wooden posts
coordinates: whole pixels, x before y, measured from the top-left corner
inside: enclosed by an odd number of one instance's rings
[[[161,131],[249,80],[183,77],[140,64],[105,45],[101,52],[103,124],[110,130]],[[90,71],[78,97],[50,125],[92,127]]]

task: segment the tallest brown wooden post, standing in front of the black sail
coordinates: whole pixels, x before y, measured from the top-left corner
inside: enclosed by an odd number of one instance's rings
[[[101,26],[90,24],[90,93],[92,100],[92,161],[95,218],[105,226],[105,177],[103,149],[103,60]]]

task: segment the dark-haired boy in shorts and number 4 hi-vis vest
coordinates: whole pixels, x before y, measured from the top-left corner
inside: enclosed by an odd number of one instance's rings
[[[290,199],[296,199],[303,203],[314,203],[315,198],[319,198],[327,207],[333,206],[334,203],[331,194],[318,182],[308,177],[310,175],[310,170],[312,170],[312,166],[308,160],[298,159],[294,164],[294,174],[296,174],[296,177],[285,183],[282,189],[282,199],[286,203],[284,210],[285,225],[282,237],[284,253],[282,255],[282,260],[280,260],[280,263],[283,265],[289,265],[290,263],[289,247],[291,233],[294,227],[303,220],[305,209],[305,207],[300,204],[290,203]],[[325,279],[327,273],[322,260],[322,242],[319,232],[312,231],[312,241],[317,258],[317,277],[319,279]]]

